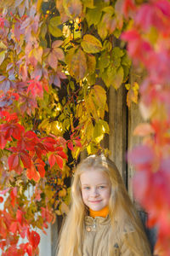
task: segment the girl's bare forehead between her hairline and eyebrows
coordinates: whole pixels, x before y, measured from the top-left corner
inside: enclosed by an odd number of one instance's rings
[[[110,179],[104,171],[95,170],[94,168],[82,172],[80,181],[88,184],[110,183]]]

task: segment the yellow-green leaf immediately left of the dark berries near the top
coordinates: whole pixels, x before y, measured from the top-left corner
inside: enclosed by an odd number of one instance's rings
[[[61,24],[60,17],[56,16],[49,20],[48,30],[55,38],[59,38],[63,35],[63,32],[59,29]]]

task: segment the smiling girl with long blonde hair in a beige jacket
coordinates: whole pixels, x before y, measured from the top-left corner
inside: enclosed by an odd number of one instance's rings
[[[57,255],[151,255],[122,177],[104,155],[91,155],[77,166]]]

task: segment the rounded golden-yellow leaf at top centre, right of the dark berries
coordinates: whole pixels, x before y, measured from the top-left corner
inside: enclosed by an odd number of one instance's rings
[[[92,35],[86,34],[81,42],[82,49],[87,53],[97,53],[102,49],[99,39]]]

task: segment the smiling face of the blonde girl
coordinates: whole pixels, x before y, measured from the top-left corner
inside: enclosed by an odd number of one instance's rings
[[[93,168],[82,172],[80,176],[82,201],[93,211],[99,211],[109,205],[111,182],[105,172],[96,172]]]

